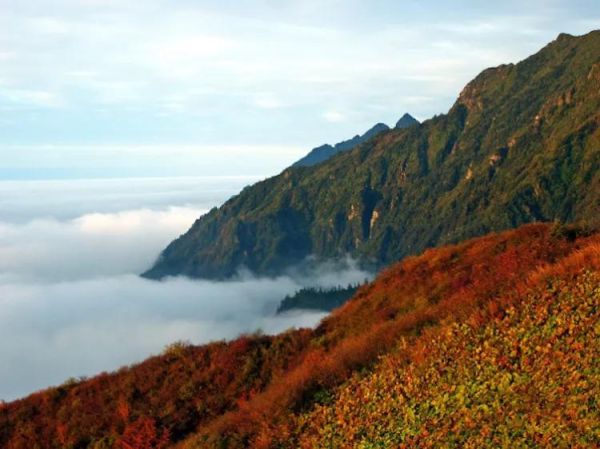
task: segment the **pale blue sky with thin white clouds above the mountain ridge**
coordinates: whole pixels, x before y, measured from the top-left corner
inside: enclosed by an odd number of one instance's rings
[[[0,178],[269,174],[600,28],[597,1],[492,3],[0,0]]]

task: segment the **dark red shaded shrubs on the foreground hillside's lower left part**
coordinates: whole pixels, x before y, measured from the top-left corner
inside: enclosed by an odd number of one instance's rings
[[[235,408],[240,398],[298,363],[309,338],[310,331],[299,330],[204,346],[171,345],[141,364],[3,406],[0,447],[145,447],[153,432],[164,446]],[[136,440],[138,433],[144,436]]]

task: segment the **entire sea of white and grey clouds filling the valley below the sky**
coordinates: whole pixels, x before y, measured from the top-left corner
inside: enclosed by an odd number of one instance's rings
[[[305,285],[369,277],[351,262],[228,282],[142,279],[173,238],[247,178],[0,182],[0,399],[113,370],[186,340],[313,326],[275,315]]]

